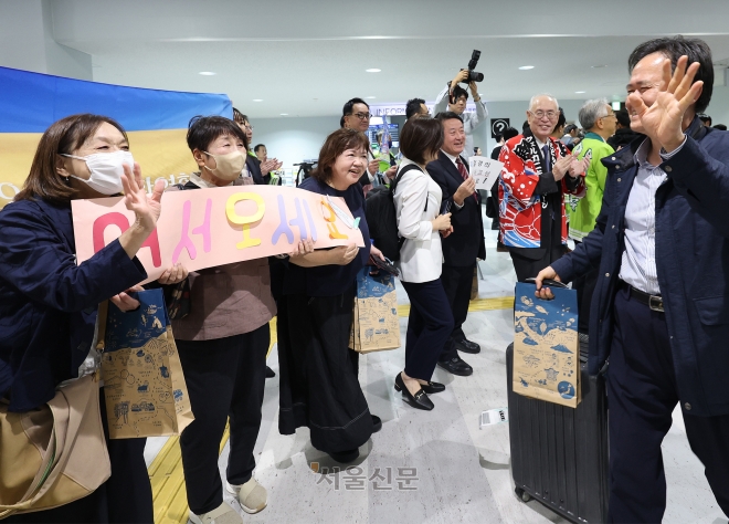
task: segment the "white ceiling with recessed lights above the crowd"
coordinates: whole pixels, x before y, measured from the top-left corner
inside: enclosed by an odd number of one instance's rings
[[[725,0],[53,0],[55,40],[92,55],[94,81],[225,93],[252,119],[432,101],[473,49],[486,101],[622,99],[636,44],[700,35],[726,61],[727,21]]]

